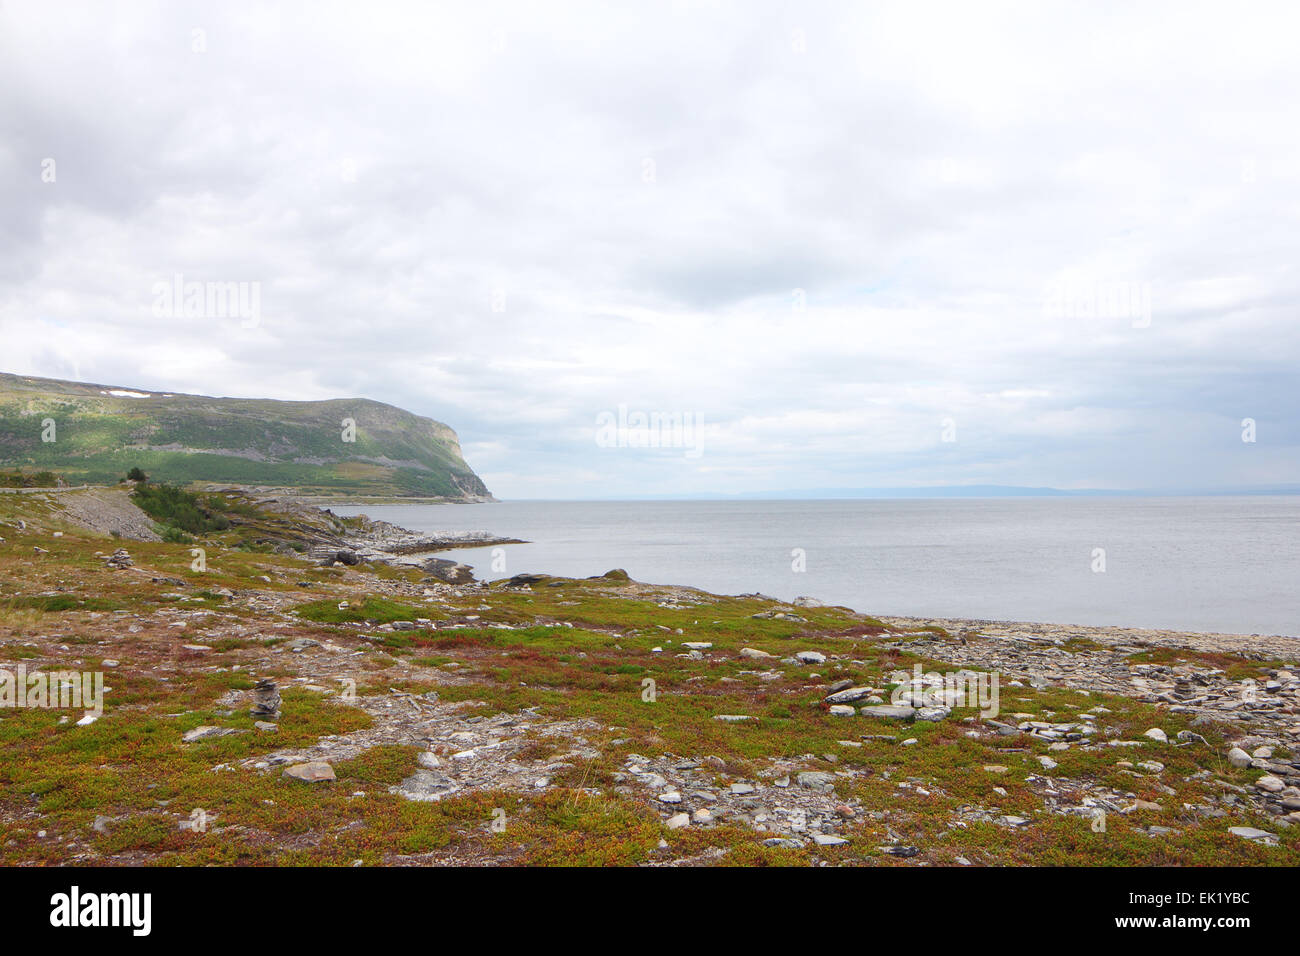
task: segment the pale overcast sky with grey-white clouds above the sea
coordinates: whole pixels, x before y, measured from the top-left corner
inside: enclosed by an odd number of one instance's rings
[[[1297,35],[0,0],[0,369],[391,402],[498,497],[1297,481]],[[160,312],[178,274],[256,319]],[[702,427],[602,446],[620,406]]]

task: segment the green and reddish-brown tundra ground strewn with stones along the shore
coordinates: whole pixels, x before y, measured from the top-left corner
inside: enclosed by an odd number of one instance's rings
[[[285,529],[250,499],[148,488],[140,507],[194,541],[117,541],[68,522],[60,496],[0,496],[0,669],[103,670],[108,688],[87,724],[0,709],[0,862],[1300,865],[1300,827],[1235,796],[1264,775],[1225,758],[1248,727],[1005,678],[1002,721],[1092,714],[1096,745],[997,732],[975,708],[840,717],[831,685],[888,697],[898,670],[953,670],[930,649],[957,637],[625,575],[451,587],[325,567],[252,546]],[[1264,680],[1284,662],[1219,663]],[[264,680],[281,697],[270,721],[250,713]],[[1171,743],[1183,730],[1204,744]],[[311,760],[333,779],[285,774]],[[430,766],[441,799],[394,792]],[[718,813],[670,827],[647,766],[690,767],[680,796]],[[763,819],[811,793],[800,774],[826,775],[842,842]],[[1138,809],[1104,832],[1057,812],[1098,790]]]

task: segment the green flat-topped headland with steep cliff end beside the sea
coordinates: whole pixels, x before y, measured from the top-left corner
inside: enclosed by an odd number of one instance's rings
[[[368,398],[212,398],[0,372],[0,468],[321,494],[490,498],[441,421]]]

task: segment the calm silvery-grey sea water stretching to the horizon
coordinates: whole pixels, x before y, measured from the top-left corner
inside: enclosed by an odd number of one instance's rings
[[[529,541],[445,553],[480,578],[621,567],[872,614],[1300,633],[1300,497],[504,501],[335,507]],[[1105,571],[1092,570],[1105,549]],[[803,571],[796,571],[802,549]]]

